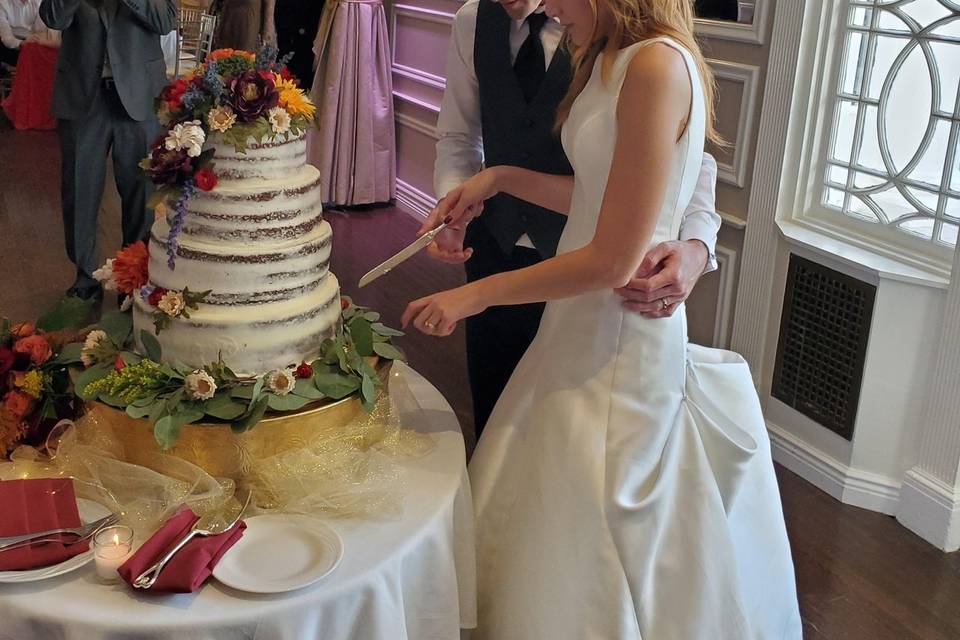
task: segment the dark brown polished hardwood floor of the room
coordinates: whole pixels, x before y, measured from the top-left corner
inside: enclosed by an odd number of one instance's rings
[[[100,220],[103,256],[117,248],[117,196],[109,185]],[[412,298],[456,285],[461,271],[418,256],[364,289],[369,267],[408,242],[416,222],[396,209],[330,212],[333,270],[344,293],[398,322]],[[0,124],[0,315],[29,320],[71,284],[59,220],[57,147],[49,132]],[[108,301],[108,304],[110,301]],[[402,338],[411,364],[456,409],[472,450],[463,335]],[[839,504],[778,469],[810,640],[960,638],[960,558],[945,555],[893,518]],[[2,590],[0,590],[2,597]],[[740,640],[718,638],[717,640]]]

